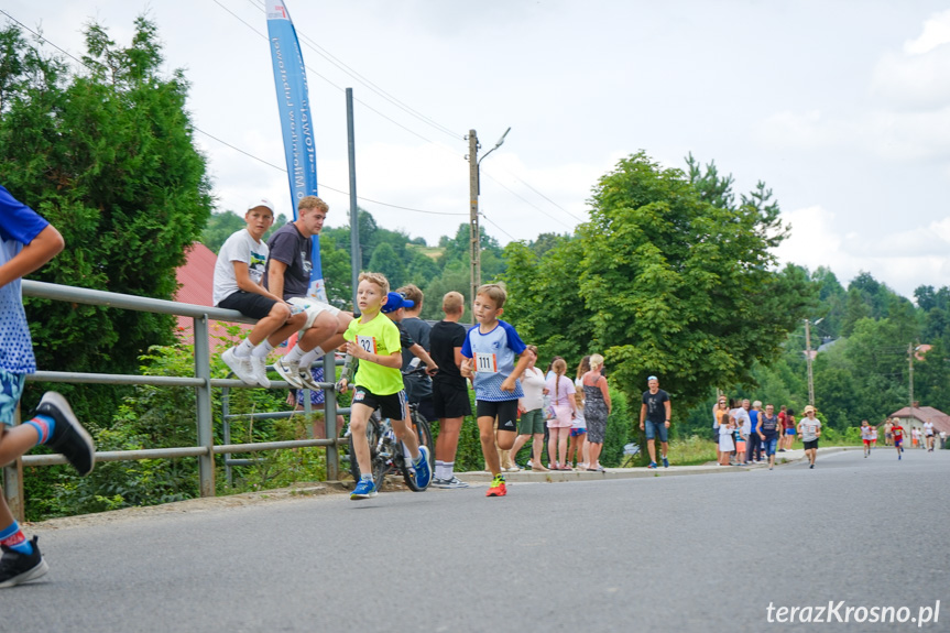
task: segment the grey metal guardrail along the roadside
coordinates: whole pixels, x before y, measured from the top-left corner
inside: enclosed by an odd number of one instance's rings
[[[26,378],[34,382],[68,382],[86,384],[148,384],[154,386],[192,386],[195,388],[196,397],[196,427],[197,444],[189,447],[156,448],[146,450],[119,450],[102,451],[96,454],[97,461],[125,461],[139,459],[174,459],[181,457],[197,457],[198,472],[200,479],[201,496],[215,495],[215,456],[225,455],[226,460],[234,452],[254,452],[260,450],[282,450],[287,448],[301,448],[308,446],[325,446],[327,448],[327,478],[337,479],[339,476],[339,454],[337,445],[345,440],[337,438],[337,401],[332,383],[320,383],[324,386],[324,421],[327,426],[326,436],[332,439],[301,439],[291,441],[266,441],[251,444],[223,444],[215,445],[212,428],[214,416],[211,413],[212,389],[260,389],[244,384],[240,380],[212,379],[211,378],[211,353],[208,345],[209,320],[221,320],[227,323],[254,324],[255,319],[248,318],[237,310],[199,306],[150,297],[110,293],[90,288],[80,288],[61,284],[51,284],[32,280],[23,280],[23,294],[31,297],[47,298],[86,305],[107,306],[137,312],[149,312],[192,317],[195,336],[195,376],[152,376],[130,375],[110,373],[80,373],[59,371],[39,371]],[[332,354],[324,358],[325,375],[336,375],[335,359]],[[272,389],[291,389],[285,382],[273,381]],[[304,399],[305,414],[309,410],[309,394]],[[348,412],[341,410],[341,413]],[[294,412],[281,412],[280,414],[256,414],[290,416]],[[227,417],[227,415],[226,415]],[[227,440],[226,440],[227,441]],[[48,466],[54,463],[66,463],[65,458],[58,455],[28,455],[10,467],[3,469],[3,493],[10,510],[19,520],[24,517],[23,478],[22,468],[26,466]]]

